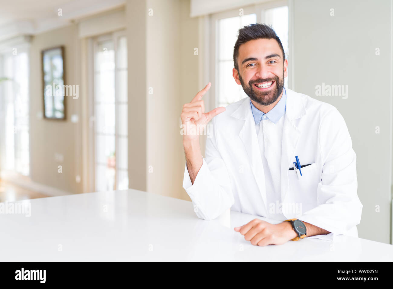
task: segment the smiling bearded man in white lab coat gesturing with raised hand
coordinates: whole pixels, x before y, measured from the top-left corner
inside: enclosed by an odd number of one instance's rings
[[[330,104],[284,88],[288,60],[264,24],[239,30],[233,78],[248,97],[205,113],[202,96],[184,104],[183,187],[202,219],[231,208],[260,219],[236,227],[253,245],[329,234],[358,236],[356,154],[342,115]],[[211,121],[211,124],[208,124]],[[211,125],[206,157],[201,126]]]

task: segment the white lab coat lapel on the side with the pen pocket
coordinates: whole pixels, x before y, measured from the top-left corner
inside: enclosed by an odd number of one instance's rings
[[[292,90],[286,90],[286,112],[283,126],[283,145],[281,150],[281,201],[284,202],[288,192],[288,168],[293,166],[295,150],[300,137],[300,130],[296,124],[306,113],[301,96]]]

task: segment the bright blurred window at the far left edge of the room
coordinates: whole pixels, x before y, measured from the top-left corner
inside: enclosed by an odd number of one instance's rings
[[[29,63],[27,52],[21,50],[1,57],[1,168],[29,176]]]

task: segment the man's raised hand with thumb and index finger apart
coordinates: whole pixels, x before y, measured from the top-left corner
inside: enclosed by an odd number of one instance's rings
[[[205,86],[204,89],[196,93],[195,97],[190,103],[186,103],[183,106],[182,119],[183,127],[183,141],[198,141],[199,135],[202,133],[202,129],[206,129],[206,125],[211,121],[217,114],[225,111],[225,108],[220,106],[214,110],[205,113],[205,104],[202,101],[202,97],[209,90],[211,83]]]

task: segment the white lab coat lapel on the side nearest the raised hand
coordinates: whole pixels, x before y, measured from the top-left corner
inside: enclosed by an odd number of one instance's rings
[[[259,192],[264,202],[266,209],[266,186],[265,175],[261,158],[261,150],[259,148],[257,133],[255,130],[255,121],[250,107],[250,98],[246,97],[244,102],[239,106],[235,112],[232,113],[233,117],[241,119],[244,124],[239,132],[239,137],[246,148],[252,173],[257,182]]]

